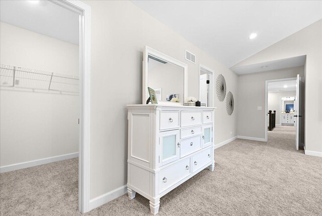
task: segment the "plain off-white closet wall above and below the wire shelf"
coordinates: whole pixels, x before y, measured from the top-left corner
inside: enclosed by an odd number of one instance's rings
[[[78,76],[78,45],[0,25],[1,64]],[[18,87],[0,94],[1,167],[78,152],[77,94]]]

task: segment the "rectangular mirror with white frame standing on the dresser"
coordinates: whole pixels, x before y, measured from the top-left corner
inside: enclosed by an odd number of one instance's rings
[[[145,46],[142,83],[143,104],[149,97],[147,87],[154,89],[160,104],[169,103],[174,97],[180,102],[172,104],[182,104],[187,95],[187,64]]]

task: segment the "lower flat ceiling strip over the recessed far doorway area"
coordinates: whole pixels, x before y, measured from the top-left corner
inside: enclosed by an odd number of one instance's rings
[[[251,64],[240,67],[231,67],[230,69],[236,74],[247,74],[247,73],[256,73],[256,72],[265,72],[271,70],[280,70],[290,67],[299,67],[304,66],[306,56],[296,56],[286,59],[278,59],[274,61],[261,62],[258,64]]]

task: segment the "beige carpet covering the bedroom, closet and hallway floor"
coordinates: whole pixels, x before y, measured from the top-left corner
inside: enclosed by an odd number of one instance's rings
[[[160,199],[158,215],[322,215],[322,158],[295,150],[294,127],[268,143],[235,140],[205,169]],[[0,175],[1,215],[81,215],[77,159]],[[149,215],[149,201],[123,195],[84,215]]]

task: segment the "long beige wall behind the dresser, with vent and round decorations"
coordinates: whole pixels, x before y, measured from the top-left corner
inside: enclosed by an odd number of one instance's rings
[[[90,197],[126,184],[126,104],[142,101],[143,47],[188,64],[188,96],[199,95],[199,63],[222,73],[235,97],[237,76],[211,56],[128,1],[84,1],[91,6],[91,155]],[[197,64],[185,60],[185,49]],[[116,82],[115,80],[122,80]],[[114,95],[118,95],[117,98]],[[236,113],[228,116],[215,98],[215,143],[237,135]],[[231,134],[230,134],[231,132]]]

